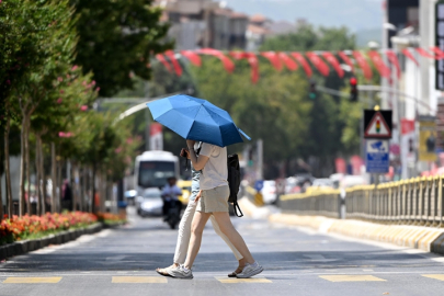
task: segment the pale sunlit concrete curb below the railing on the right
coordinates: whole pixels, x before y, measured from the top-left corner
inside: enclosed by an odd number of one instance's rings
[[[274,214],[271,223],[310,227],[323,234],[389,242],[392,244],[444,254],[444,229],[411,225],[380,225],[362,220],[340,220],[321,216]]]

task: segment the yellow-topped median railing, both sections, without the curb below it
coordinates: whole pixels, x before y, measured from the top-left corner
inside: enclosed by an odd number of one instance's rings
[[[345,217],[385,224],[443,226],[444,175],[423,177],[345,191]],[[340,191],[281,196],[284,212],[339,217]]]

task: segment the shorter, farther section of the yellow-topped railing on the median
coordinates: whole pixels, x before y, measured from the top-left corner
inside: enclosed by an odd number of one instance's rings
[[[339,218],[340,193],[339,190],[318,190],[309,193],[282,195],[280,205],[283,212]]]

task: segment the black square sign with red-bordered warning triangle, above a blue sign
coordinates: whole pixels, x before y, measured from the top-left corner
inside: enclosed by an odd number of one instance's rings
[[[364,138],[391,138],[391,111],[364,110]]]

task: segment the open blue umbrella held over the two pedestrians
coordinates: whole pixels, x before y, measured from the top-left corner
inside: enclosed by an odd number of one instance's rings
[[[161,123],[185,139],[200,140],[225,147],[242,143],[243,135],[225,110],[208,101],[178,94],[147,103],[156,122]]]

